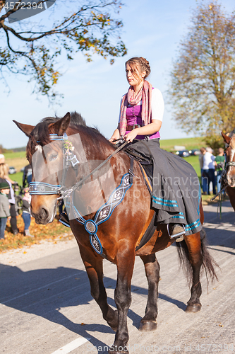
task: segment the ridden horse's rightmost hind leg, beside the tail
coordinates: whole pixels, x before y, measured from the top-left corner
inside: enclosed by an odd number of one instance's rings
[[[191,298],[188,300],[186,312],[198,312],[202,306],[200,303],[200,295],[202,295],[200,268],[203,264],[203,257],[201,254],[200,232],[190,236],[185,236],[185,241],[188,247],[188,259],[193,270]]]

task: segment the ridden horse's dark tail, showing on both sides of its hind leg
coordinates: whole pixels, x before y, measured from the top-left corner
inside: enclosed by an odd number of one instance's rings
[[[214,258],[212,258],[207,249],[208,244],[204,229],[200,231],[200,244],[200,255],[202,259],[201,271],[205,270],[207,285],[209,285],[210,281],[213,282],[215,279],[218,280],[217,274],[215,272],[215,267],[219,268],[219,265],[216,263]],[[186,241],[183,240],[181,242],[176,242],[176,246],[179,254],[180,263],[183,266],[184,272],[186,273],[188,283],[191,284],[193,281],[193,268],[190,262]]]

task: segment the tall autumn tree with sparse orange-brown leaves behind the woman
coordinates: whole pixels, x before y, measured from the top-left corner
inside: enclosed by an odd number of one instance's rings
[[[220,132],[235,127],[235,13],[216,0],[193,11],[180,42],[169,89],[174,118],[185,132],[205,135],[218,147]]]

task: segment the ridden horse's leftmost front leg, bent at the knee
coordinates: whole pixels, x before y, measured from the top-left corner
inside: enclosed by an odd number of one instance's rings
[[[117,311],[107,303],[107,292],[103,283],[103,259],[97,256],[91,249],[79,245],[80,256],[83,259],[85,270],[90,280],[90,293],[95,299],[103,314],[103,318],[109,326],[116,331],[118,324]]]

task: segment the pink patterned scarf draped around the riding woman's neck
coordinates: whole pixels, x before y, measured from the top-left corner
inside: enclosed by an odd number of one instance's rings
[[[133,86],[130,86],[126,95],[121,101],[121,115],[119,121],[120,135],[126,134],[126,108],[128,104],[137,105],[142,100],[141,118],[143,126],[151,122],[151,106],[152,106],[152,85],[148,81],[144,81],[143,88],[135,97]]]

